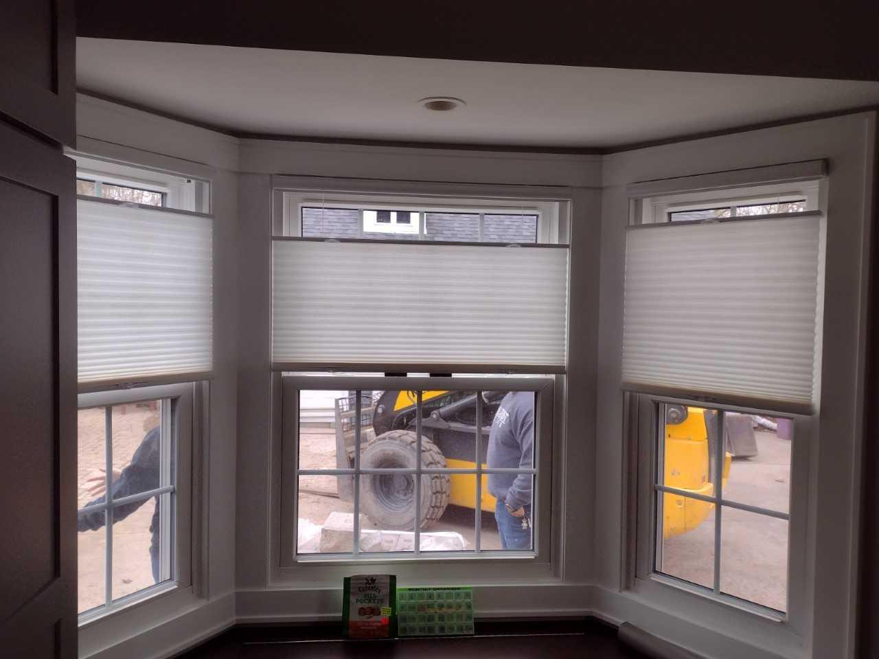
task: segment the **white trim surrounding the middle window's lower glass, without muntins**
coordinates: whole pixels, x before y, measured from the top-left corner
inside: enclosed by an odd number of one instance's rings
[[[367,377],[296,375],[274,373],[272,390],[272,574],[270,582],[320,583],[335,587],[338,578],[352,569],[368,566],[371,570],[389,570],[400,578],[420,583],[534,583],[556,581],[559,569],[558,547],[563,516],[561,506],[553,504],[559,490],[559,456],[563,437],[557,425],[558,400],[561,400],[563,376],[553,378],[507,377]],[[298,389],[466,389],[524,390],[538,392],[535,435],[535,465],[547,477],[538,477],[535,491],[534,552],[431,552],[429,554],[360,554],[349,556],[295,556],[296,529],[296,440],[298,426]],[[292,403],[292,404],[291,404]],[[293,409],[289,409],[293,407]],[[283,409],[282,409],[283,408]],[[285,505],[285,502],[287,504]],[[448,566],[454,564],[454,570]]]

